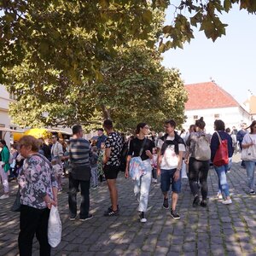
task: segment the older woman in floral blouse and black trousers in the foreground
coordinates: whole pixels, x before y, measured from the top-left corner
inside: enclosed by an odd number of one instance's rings
[[[25,158],[18,178],[20,184],[20,256],[32,255],[32,240],[36,234],[40,255],[50,255],[47,230],[50,207],[57,205],[55,175],[49,160],[38,154],[40,143],[35,137],[20,139],[20,154]]]

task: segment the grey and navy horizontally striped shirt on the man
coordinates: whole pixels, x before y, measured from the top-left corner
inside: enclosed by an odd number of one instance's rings
[[[70,163],[90,166],[90,143],[84,138],[71,139],[69,148]]]

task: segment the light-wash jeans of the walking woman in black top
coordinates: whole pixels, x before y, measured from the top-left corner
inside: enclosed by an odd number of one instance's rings
[[[139,201],[138,211],[147,212],[148,195],[152,176],[152,166],[150,165],[150,160],[143,160],[143,164],[146,168],[146,174],[143,175],[140,180],[135,181],[134,195]]]

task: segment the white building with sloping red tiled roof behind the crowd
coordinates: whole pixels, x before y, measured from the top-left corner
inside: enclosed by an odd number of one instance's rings
[[[236,102],[233,96],[213,82],[187,84],[189,100],[185,104],[186,123],[184,129],[195,124],[196,119],[204,118],[206,131],[212,133],[215,119],[222,119],[225,127],[236,126],[240,130],[241,123],[251,124],[252,117],[245,108]]]

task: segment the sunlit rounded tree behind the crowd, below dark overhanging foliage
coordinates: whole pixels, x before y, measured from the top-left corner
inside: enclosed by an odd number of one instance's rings
[[[121,131],[134,129],[142,120],[156,131],[162,129],[166,118],[182,124],[187,95],[178,71],[162,67],[160,53],[147,48],[143,41],[119,47],[118,56],[104,62],[102,80],[84,80],[83,84],[69,81],[60,91],[50,84],[44,84],[45,91],[35,91],[26,86],[27,77],[37,75],[34,70],[15,72],[24,79],[18,101],[10,105],[15,123],[44,126],[79,122],[90,130],[101,125],[102,118],[111,118]]]

